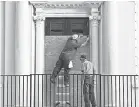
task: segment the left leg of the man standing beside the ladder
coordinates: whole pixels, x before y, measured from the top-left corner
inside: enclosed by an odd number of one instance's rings
[[[84,102],[85,107],[90,107],[90,100],[89,100],[89,84],[84,81],[83,85],[83,95],[84,95]]]

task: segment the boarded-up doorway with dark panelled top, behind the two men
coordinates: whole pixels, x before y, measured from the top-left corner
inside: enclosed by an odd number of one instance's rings
[[[88,17],[49,17],[45,19],[45,73],[52,73],[56,61],[67,41],[74,33],[89,35]],[[73,61],[73,73],[80,72],[80,54],[86,54],[90,59],[90,44],[77,50]],[[71,72],[72,72],[71,71]]]

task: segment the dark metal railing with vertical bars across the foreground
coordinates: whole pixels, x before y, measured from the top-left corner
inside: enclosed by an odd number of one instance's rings
[[[64,75],[56,84],[50,74],[1,75],[0,107],[85,107],[81,74],[70,74],[69,87]],[[137,75],[95,76],[97,107],[139,107]]]

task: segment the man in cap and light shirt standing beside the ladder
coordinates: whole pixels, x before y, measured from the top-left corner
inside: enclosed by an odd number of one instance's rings
[[[96,107],[94,81],[95,81],[95,67],[92,62],[86,59],[86,55],[81,55],[80,61],[82,63],[81,71],[83,73],[83,95],[85,107]]]

